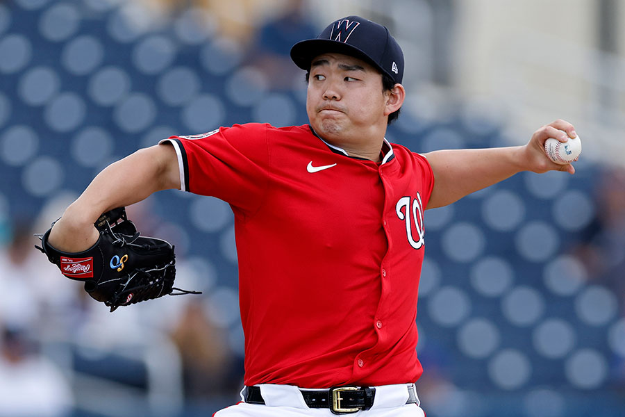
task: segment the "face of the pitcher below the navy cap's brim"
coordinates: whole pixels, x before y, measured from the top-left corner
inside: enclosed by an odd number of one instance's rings
[[[306,111],[313,129],[325,140],[356,145],[380,131],[383,136],[386,97],[381,74],[365,61],[343,54],[313,59]]]

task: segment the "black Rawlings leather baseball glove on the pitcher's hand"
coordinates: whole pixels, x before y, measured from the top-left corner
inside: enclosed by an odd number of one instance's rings
[[[52,223],[52,226],[54,223]],[[88,250],[67,253],[48,243],[52,228],[35,247],[69,279],[83,281],[85,291],[110,307],[135,304],[163,295],[201,294],[174,287],[176,256],[165,240],[140,236],[124,207],[107,211],[95,222],[100,236]],[[174,293],[178,291],[177,293]]]

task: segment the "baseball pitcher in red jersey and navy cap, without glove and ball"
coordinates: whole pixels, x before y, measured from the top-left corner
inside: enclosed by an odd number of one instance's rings
[[[235,214],[245,377],[242,402],[215,416],[424,416],[414,384],[424,211],[517,172],[574,173],[543,152],[574,126],[542,126],[519,147],[417,154],[385,140],[406,95],[387,28],[344,17],[291,57],[306,71],[310,124],[236,124],[140,149],[92,181],[49,244],[83,251],[101,213],[158,190],[223,199]]]

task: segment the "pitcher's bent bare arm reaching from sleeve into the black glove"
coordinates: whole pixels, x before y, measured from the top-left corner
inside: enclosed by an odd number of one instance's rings
[[[180,170],[174,147],[162,145],[140,149],[108,165],[63,216],[54,224],[49,243],[64,252],[81,252],[91,247],[99,233],[94,222],[105,211],[129,206],[156,191],[180,189]]]

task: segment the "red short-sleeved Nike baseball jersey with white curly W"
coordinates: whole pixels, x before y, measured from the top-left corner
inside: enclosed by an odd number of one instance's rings
[[[182,189],[235,214],[247,385],[415,382],[426,158],[347,156],[308,125],[173,136]]]

